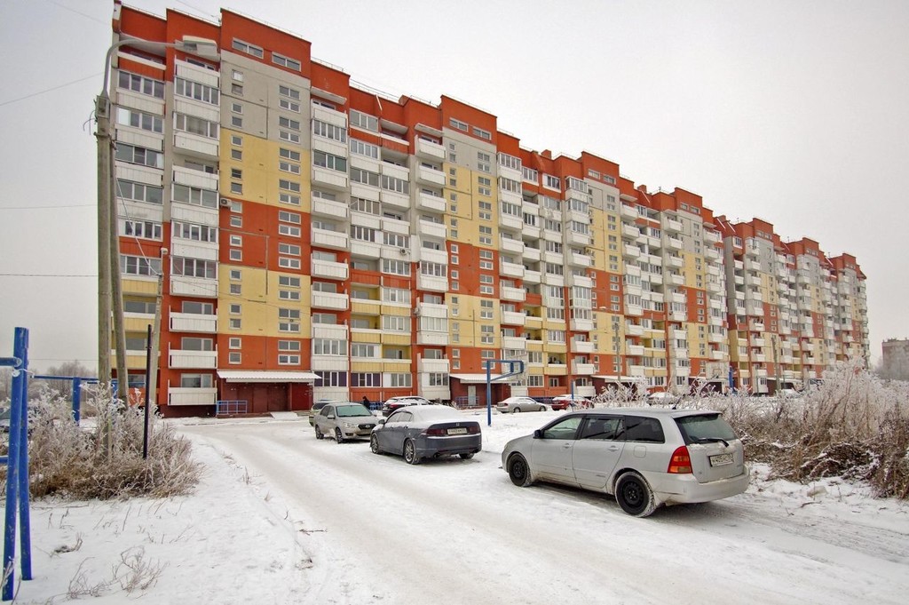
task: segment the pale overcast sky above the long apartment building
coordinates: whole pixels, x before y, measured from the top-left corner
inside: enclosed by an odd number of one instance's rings
[[[215,0],[133,0],[216,21]],[[494,0],[225,7],[392,96],[454,96],[524,147],[853,254],[871,351],[909,338],[909,2]],[[0,357],[96,366],[94,98],[112,0],[0,0]]]

